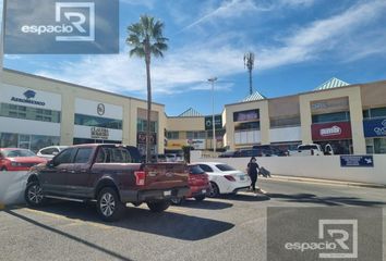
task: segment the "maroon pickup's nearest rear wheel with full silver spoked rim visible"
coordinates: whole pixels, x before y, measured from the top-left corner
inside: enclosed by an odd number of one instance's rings
[[[98,195],[97,210],[104,221],[117,221],[124,206],[113,188],[104,188]]]

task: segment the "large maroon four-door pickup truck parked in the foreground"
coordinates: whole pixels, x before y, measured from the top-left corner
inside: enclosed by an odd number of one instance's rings
[[[39,207],[47,199],[95,201],[105,221],[120,217],[126,203],[146,202],[161,212],[172,197],[189,194],[184,163],[141,163],[135,147],[80,145],[70,147],[46,164],[29,171],[25,200]]]

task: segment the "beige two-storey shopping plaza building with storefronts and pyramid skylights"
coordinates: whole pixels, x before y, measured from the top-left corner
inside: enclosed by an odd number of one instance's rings
[[[34,151],[50,145],[146,144],[146,101],[11,70],[0,86],[0,147]],[[152,107],[152,150],[237,150],[254,145],[293,149],[330,144],[337,153],[386,153],[386,80],[349,85],[337,78],[293,96],[266,98],[255,92],[227,104],[222,113],[189,109],[168,116]]]

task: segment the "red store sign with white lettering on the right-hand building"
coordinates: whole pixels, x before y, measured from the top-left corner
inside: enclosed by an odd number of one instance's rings
[[[351,139],[352,137],[350,122],[312,124],[311,129],[313,140]]]

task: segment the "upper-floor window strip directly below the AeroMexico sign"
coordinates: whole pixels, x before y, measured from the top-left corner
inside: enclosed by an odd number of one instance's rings
[[[15,105],[10,103],[0,104],[0,116],[60,123],[60,111]]]

